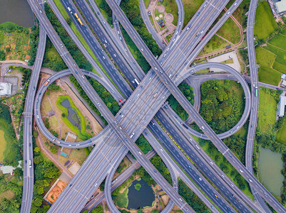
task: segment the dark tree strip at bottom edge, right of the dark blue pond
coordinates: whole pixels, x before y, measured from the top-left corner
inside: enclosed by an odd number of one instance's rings
[[[200,198],[195,195],[195,193],[190,190],[188,185],[185,184],[182,180],[179,179],[179,195],[183,197],[185,202],[187,202],[190,207],[192,207],[195,212],[210,212],[210,209],[204,204],[203,201],[200,200]]]

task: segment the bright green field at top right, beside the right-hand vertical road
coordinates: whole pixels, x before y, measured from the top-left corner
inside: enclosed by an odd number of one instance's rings
[[[277,31],[277,23],[272,15],[267,1],[260,1],[255,14],[254,34],[258,39],[265,39],[271,33]]]

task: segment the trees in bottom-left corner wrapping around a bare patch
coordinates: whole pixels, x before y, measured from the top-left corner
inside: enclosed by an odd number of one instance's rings
[[[20,170],[20,171],[19,171]],[[14,171],[15,176],[21,176],[23,171],[21,168],[17,168]],[[4,198],[0,204],[0,212],[14,212],[15,210],[19,209],[21,205],[21,198],[22,198],[22,186],[17,184],[16,178],[11,180],[5,180],[4,175],[0,176],[0,194],[6,193],[6,191],[14,192],[14,197],[12,200],[7,200]]]

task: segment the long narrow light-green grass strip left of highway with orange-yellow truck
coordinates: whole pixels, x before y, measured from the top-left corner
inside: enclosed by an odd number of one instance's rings
[[[63,15],[63,18],[65,18],[66,20],[69,20],[71,18],[69,18],[68,13],[66,12],[66,10],[63,8],[63,5],[61,4],[60,0],[53,0],[53,2],[56,4],[56,7],[58,8],[58,10],[61,12],[61,14]],[[91,48],[89,48],[88,43],[86,43],[86,40],[84,40],[83,36],[81,35],[81,33],[78,31],[78,29],[76,28],[76,26],[74,25],[73,22],[71,22],[71,29],[73,30],[73,33],[76,34],[76,37],[78,38],[78,40],[81,41],[82,45],[84,46],[84,48],[86,48],[86,50],[88,51],[88,53],[91,55],[91,57],[93,58],[93,60],[96,61],[96,63],[98,64],[99,67],[101,67],[101,70],[104,71],[101,63],[98,61],[98,59],[96,58],[96,55],[93,54]],[[96,72],[96,70],[92,70],[93,72],[95,72],[96,74],[98,74]]]

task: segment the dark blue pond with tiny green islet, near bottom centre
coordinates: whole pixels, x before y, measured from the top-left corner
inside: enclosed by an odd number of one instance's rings
[[[136,190],[135,185],[140,184],[140,190]],[[150,207],[155,200],[153,190],[144,180],[135,180],[128,188],[128,209],[138,209],[139,207]]]

